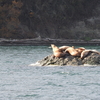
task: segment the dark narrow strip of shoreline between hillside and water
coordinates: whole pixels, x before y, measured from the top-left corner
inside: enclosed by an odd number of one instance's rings
[[[56,45],[82,45],[82,46],[100,46],[100,39],[92,39],[90,41],[76,39],[4,39],[0,38],[0,46],[48,46]]]

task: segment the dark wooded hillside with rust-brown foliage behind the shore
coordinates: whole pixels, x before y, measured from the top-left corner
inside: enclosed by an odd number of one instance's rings
[[[99,0],[0,0],[0,38],[100,38]]]

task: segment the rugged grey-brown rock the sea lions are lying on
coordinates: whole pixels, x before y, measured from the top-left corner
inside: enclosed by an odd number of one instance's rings
[[[58,65],[58,66],[66,66],[66,65],[99,65],[100,64],[100,55],[97,53],[89,53],[84,59],[80,57],[73,57],[71,55],[66,54],[65,57],[57,58],[53,55],[49,55],[44,59],[38,61],[41,66],[48,66],[48,65]]]

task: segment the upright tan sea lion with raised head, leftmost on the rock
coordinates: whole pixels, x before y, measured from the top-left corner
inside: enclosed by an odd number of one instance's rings
[[[63,57],[65,56],[65,52],[62,52],[62,50],[60,50],[57,46],[55,46],[54,44],[51,44],[52,50],[53,50],[53,54],[55,57]]]

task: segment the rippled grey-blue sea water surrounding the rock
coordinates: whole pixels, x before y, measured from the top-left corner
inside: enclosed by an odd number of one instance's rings
[[[100,66],[29,66],[48,47],[0,46],[0,100],[100,100]]]

